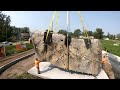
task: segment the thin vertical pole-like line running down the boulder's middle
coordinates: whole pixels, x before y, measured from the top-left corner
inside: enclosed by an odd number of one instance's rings
[[[70,27],[70,12],[67,11],[67,57],[68,57],[68,70],[69,70],[69,45],[68,45],[69,27]]]

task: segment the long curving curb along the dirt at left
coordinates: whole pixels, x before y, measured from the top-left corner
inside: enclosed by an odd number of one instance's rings
[[[12,65],[18,63],[19,61],[21,61],[21,60],[23,60],[23,59],[26,59],[26,58],[32,56],[32,55],[34,55],[34,54],[35,54],[35,53],[33,52],[33,53],[29,54],[29,55],[23,56],[23,57],[21,57],[21,58],[18,58],[18,59],[14,60],[14,61],[11,61],[11,62],[9,62],[9,63],[1,66],[1,67],[0,67],[0,75],[1,75],[6,69],[8,69],[9,67],[11,67]]]

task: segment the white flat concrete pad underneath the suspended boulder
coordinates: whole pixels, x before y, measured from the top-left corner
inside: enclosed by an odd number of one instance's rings
[[[44,79],[109,79],[104,70],[96,76],[85,75],[77,72],[67,71],[53,66],[50,62],[40,63],[41,74],[37,74],[37,69],[34,66],[28,73],[44,78]]]

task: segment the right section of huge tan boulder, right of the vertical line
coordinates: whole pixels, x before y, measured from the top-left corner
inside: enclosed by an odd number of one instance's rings
[[[87,49],[84,39],[72,39],[69,48],[69,69],[87,74],[97,75],[101,70],[101,44],[91,39],[91,48]]]

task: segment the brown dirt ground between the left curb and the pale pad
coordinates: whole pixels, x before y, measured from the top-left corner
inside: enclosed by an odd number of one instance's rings
[[[19,76],[23,73],[26,73],[30,68],[34,66],[34,59],[35,55],[11,66],[1,74],[0,79],[14,79],[14,76]]]

